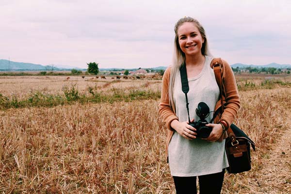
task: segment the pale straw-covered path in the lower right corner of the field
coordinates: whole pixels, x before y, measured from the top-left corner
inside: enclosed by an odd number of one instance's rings
[[[256,194],[291,194],[291,115],[287,129],[262,159],[257,178],[250,181]]]

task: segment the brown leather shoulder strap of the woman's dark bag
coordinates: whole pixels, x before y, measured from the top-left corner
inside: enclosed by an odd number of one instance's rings
[[[219,86],[219,90],[220,90],[221,113],[223,113],[223,111],[224,111],[224,102],[225,102],[225,99],[226,99],[226,91],[225,91],[225,87],[224,87],[224,84],[223,84],[223,81],[222,81],[223,67],[224,66],[223,66],[223,62],[222,62],[221,58],[214,58],[212,60],[212,68],[213,68],[213,71],[214,71],[215,80],[216,80],[217,85]],[[233,146],[237,145],[238,141],[236,140],[235,134],[232,131],[232,129],[230,128],[230,126],[228,127],[228,129],[226,131],[227,131],[228,137],[230,138]]]

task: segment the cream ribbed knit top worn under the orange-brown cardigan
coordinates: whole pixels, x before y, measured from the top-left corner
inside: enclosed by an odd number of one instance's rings
[[[194,118],[195,121],[199,120],[195,113],[199,102],[205,102],[210,111],[214,111],[219,98],[219,87],[213,69],[210,67],[211,60],[212,58],[206,56],[201,73],[188,79],[190,119]],[[181,89],[179,72],[175,78],[174,102],[179,121],[188,121],[186,98]],[[210,113],[206,120],[209,122],[212,116],[213,113]],[[221,172],[223,168],[228,167],[225,140],[222,142],[207,142],[201,139],[187,140],[176,131],[168,146],[168,156],[171,175],[177,177],[208,175]]]

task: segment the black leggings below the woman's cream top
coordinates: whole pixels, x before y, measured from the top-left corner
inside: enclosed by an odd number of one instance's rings
[[[199,194],[220,194],[225,169],[220,173],[199,176]],[[177,194],[197,194],[196,177],[173,177]]]

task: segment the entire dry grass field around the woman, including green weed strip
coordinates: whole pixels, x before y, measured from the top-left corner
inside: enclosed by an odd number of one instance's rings
[[[174,194],[161,82],[0,77],[0,194]],[[256,151],[251,171],[226,173],[222,193],[291,194],[291,77],[237,83],[235,123]]]

